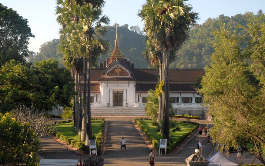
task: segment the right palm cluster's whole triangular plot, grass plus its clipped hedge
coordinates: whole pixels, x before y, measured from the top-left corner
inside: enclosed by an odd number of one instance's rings
[[[162,136],[155,131],[155,126],[152,125],[152,120],[148,118],[140,118],[135,119],[138,127],[146,134],[149,141],[153,144],[153,146],[159,150],[159,141],[162,139]],[[169,153],[174,151],[176,147],[181,144],[185,138],[187,138],[190,134],[195,131],[199,123],[189,122],[189,121],[177,121],[178,126],[180,127],[180,131],[170,132],[172,138],[170,143],[168,143],[167,150]]]

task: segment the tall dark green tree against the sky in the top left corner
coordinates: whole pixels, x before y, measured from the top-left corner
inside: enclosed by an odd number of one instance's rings
[[[34,37],[28,20],[0,3],[0,66],[15,59],[22,64],[29,56],[29,38]]]

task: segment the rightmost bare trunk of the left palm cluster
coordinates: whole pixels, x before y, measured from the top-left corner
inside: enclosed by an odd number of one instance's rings
[[[90,56],[91,57],[91,56]],[[91,58],[88,58],[87,63],[87,118],[86,118],[86,145],[89,145],[89,139],[92,138],[92,122],[91,122],[91,106],[90,106],[90,68],[91,68]]]

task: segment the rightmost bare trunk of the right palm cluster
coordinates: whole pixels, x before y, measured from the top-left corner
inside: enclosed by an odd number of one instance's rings
[[[165,63],[165,117],[164,117],[164,129],[163,135],[166,135],[167,140],[169,141],[169,49],[166,49],[166,63]]]

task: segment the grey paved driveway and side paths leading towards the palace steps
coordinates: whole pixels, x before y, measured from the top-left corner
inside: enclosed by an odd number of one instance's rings
[[[100,156],[105,160],[105,165],[107,166],[124,166],[124,165],[135,165],[135,166],[149,166],[149,151],[150,149],[143,141],[139,132],[134,127],[132,121],[134,117],[106,117],[108,121],[107,136],[106,136],[106,151],[105,155]],[[175,120],[186,120],[175,118]],[[206,125],[205,120],[192,120],[200,123],[201,125]],[[213,124],[209,124],[212,127]],[[121,151],[120,141],[124,137],[126,139],[127,151]],[[156,154],[156,166],[186,166],[185,159],[193,154],[197,147],[199,139],[202,139],[203,156],[206,158],[211,156],[216,152],[216,148],[212,143],[207,144],[206,137],[204,138],[204,132],[202,137],[199,137],[199,133],[196,133],[186,146],[183,147],[179,153],[171,156],[158,156]],[[88,157],[87,155],[77,153],[77,151],[68,148],[58,141],[55,141],[49,136],[44,136],[41,138],[42,150],[39,151],[39,155],[42,158],[58,158],[58,159],[76,159],[81,157],[82,161]],[[211,141],[212,142],[212,141]],[[245,153],[244,155],[246,155]],[[244,163],[251,163],[252,159],[245,159],[243,155]],[[229,160],[235,162],[236,153],[231,153],[229,155]],[[255,163],[260,163],[257,159]]]

